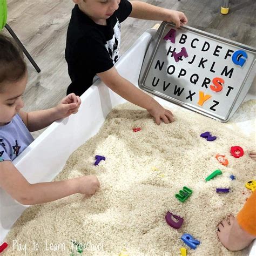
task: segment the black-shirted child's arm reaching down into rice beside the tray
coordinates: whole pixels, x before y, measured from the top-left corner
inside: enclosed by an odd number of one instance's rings
[[[146,109],[156,119],[157,124],[160,124],[160,119],[166,124],[169,121],[173,122],[173,114],[170,110],[164,109],[156,100],[120,76],[116,68],[113,67],[97,75],[112,91]]]

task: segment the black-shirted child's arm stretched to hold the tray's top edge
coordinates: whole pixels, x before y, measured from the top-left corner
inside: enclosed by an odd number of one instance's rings
[[[151,21],[173,22],[177,27],[187,23],[187,17],[183,12],[169,10],[148,3],[132,1],[132,12],[129,17],[150,19]]]

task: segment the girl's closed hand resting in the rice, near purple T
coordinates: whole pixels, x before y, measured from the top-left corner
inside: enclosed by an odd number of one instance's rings
[[[94,175],[87,175],[78,178],[78,193],[95,194],[99,190],[99,180]]]

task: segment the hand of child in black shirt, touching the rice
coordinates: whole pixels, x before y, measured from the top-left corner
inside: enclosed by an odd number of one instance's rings
[[[158,102],[154,101],[151,104],[150,109],[147,109],[147,112],[151,114],[156,120],[156,123],[159,125],[161,123],[161,119],[165,122],[165,124],[169,124],[174,121],[173,114],[170,110],[164,109]]]

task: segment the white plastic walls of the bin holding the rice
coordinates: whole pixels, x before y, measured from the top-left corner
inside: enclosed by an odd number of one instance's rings
[[[156,31],[145,31],[116,63],[120,75],[136,86],[147,45]],[[256,98],[255,94],[248,93],[246,99]],[[172,109],[177,107],[164,99],[155,98],[162,105]],[[77,114],[50,125],[14,160],[17,169],[30,183],[47,182],[55,178],[62,171],[70,154],[98,132],[113,107],[126,102],[99,79],[81,99],[82,105]],[[17,203],[0,188],[0,244],[26,207],[28,206]],[[255,241],[248,248],[248,255],[256,255]]]

